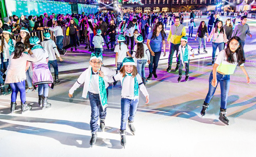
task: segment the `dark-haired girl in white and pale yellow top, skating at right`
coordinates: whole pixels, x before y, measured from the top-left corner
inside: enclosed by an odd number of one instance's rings
[[[236,66],[239,65],[246,76],[247,83],[250,83],[250,78],[245,70],[244,63],[245,56],[244,49],[241,46],[241,39],[236,36],[230,38],[227,43],[227,48],[219,53],[213,66],[213,70],[210,73],[209,90],[203,103],[201,115],[206,114],[206,109],[209,107],[210,100],[219,83],[221,91],[219,120],[226,125],[229,124],[229,120],[226,118],[226,104],[228,101],[230,75],[234,73]]]

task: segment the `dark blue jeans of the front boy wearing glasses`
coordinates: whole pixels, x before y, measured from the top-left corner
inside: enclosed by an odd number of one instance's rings
[[[108,89],[106,89],[106,91],[107,91],[107,97],[108,97]],[[99,117],[100,119],[106,118],[107,108],[103,110],[101,106],[99,94],[94,94],[92,92],[88,92],[88,93],[89,93],[89,100],[91,104],[91,121],[90,121],[91,132],[97,132],[99,128],[99,125],[97,123],[98,118]]]

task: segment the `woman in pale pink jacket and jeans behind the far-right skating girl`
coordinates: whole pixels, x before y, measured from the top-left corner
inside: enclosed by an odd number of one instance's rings
[[[218,21],[216,26],[213,28],[213,31],[210,33],[210,36],[208,38],[208,42],[213,38],[212,47],[213,47],[213,53],[212,53],[212,64],[214,64],[215,60],[215,53],[217,51],[217,48],[219,48],[219,52],[224,49],[224,43],[228,42],[228,39],[226,38],[225,29],[223,28],[223,22]]]

